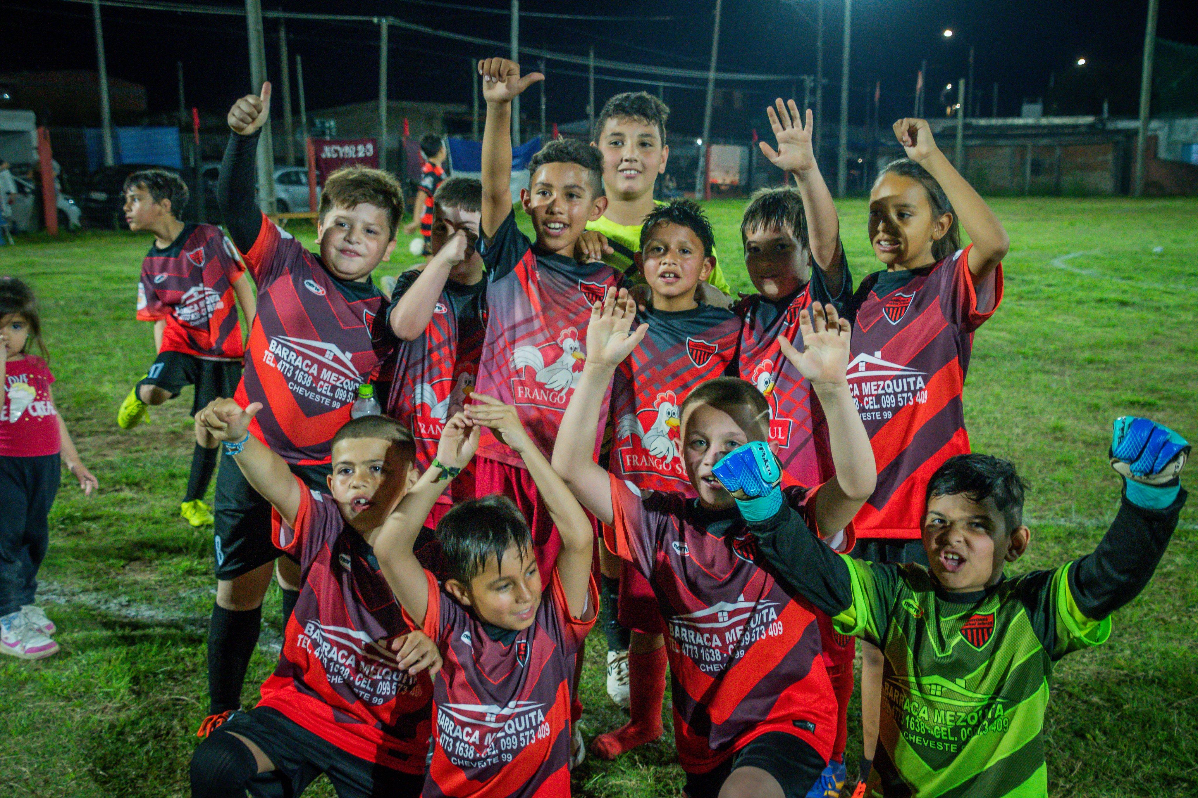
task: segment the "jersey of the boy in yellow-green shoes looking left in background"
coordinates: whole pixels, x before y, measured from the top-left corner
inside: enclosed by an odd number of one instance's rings
[[[232,284],[246,268],[216,225],[187,224],[170,246],[150,246],[138,282],[138,321],[165,319],[163,352],[205,360],[244,354]]]

